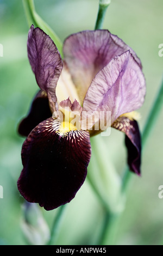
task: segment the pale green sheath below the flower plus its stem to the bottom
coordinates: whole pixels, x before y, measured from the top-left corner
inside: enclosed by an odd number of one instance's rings
[[[99,232],[99,236],[97,237],[98,240],[95,244],[105,245],[108,244],[109,241],[109,245],[111,245],[115,240],[116,232],[114,227],[117,226],[118,219],[117,214],[115,213],[117,209],[115,209],[112,200],[110,200],[112,196],[112,188],[110,190],[108,187],[113,185],[115,192],[117,192],[120,188],[118,182],[120,177],[110,165],[110,160],[107,157],[108,148],[106,147],[104,139],[99,135],[92,137],[91,147],[92,157],[89,163],[87,180],[89,180],[93,192],[95,192],[102,205],[104,215],[101,231]],[[101,154],[102,152],[104,153]],[[93,173],[91,170],[93,170]]]

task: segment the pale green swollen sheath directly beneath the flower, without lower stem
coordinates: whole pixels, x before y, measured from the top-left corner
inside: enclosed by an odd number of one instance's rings
[[[115,192],[113,193],[116,198],[116,194],[118,194],[121,187],[120,176],[110,162],[105,139],[101,135],[97,135],[91,137],[90,141],[92,156],[88,166],[87,180],[103,208],[110,212],[115,209],[112,192]]]

